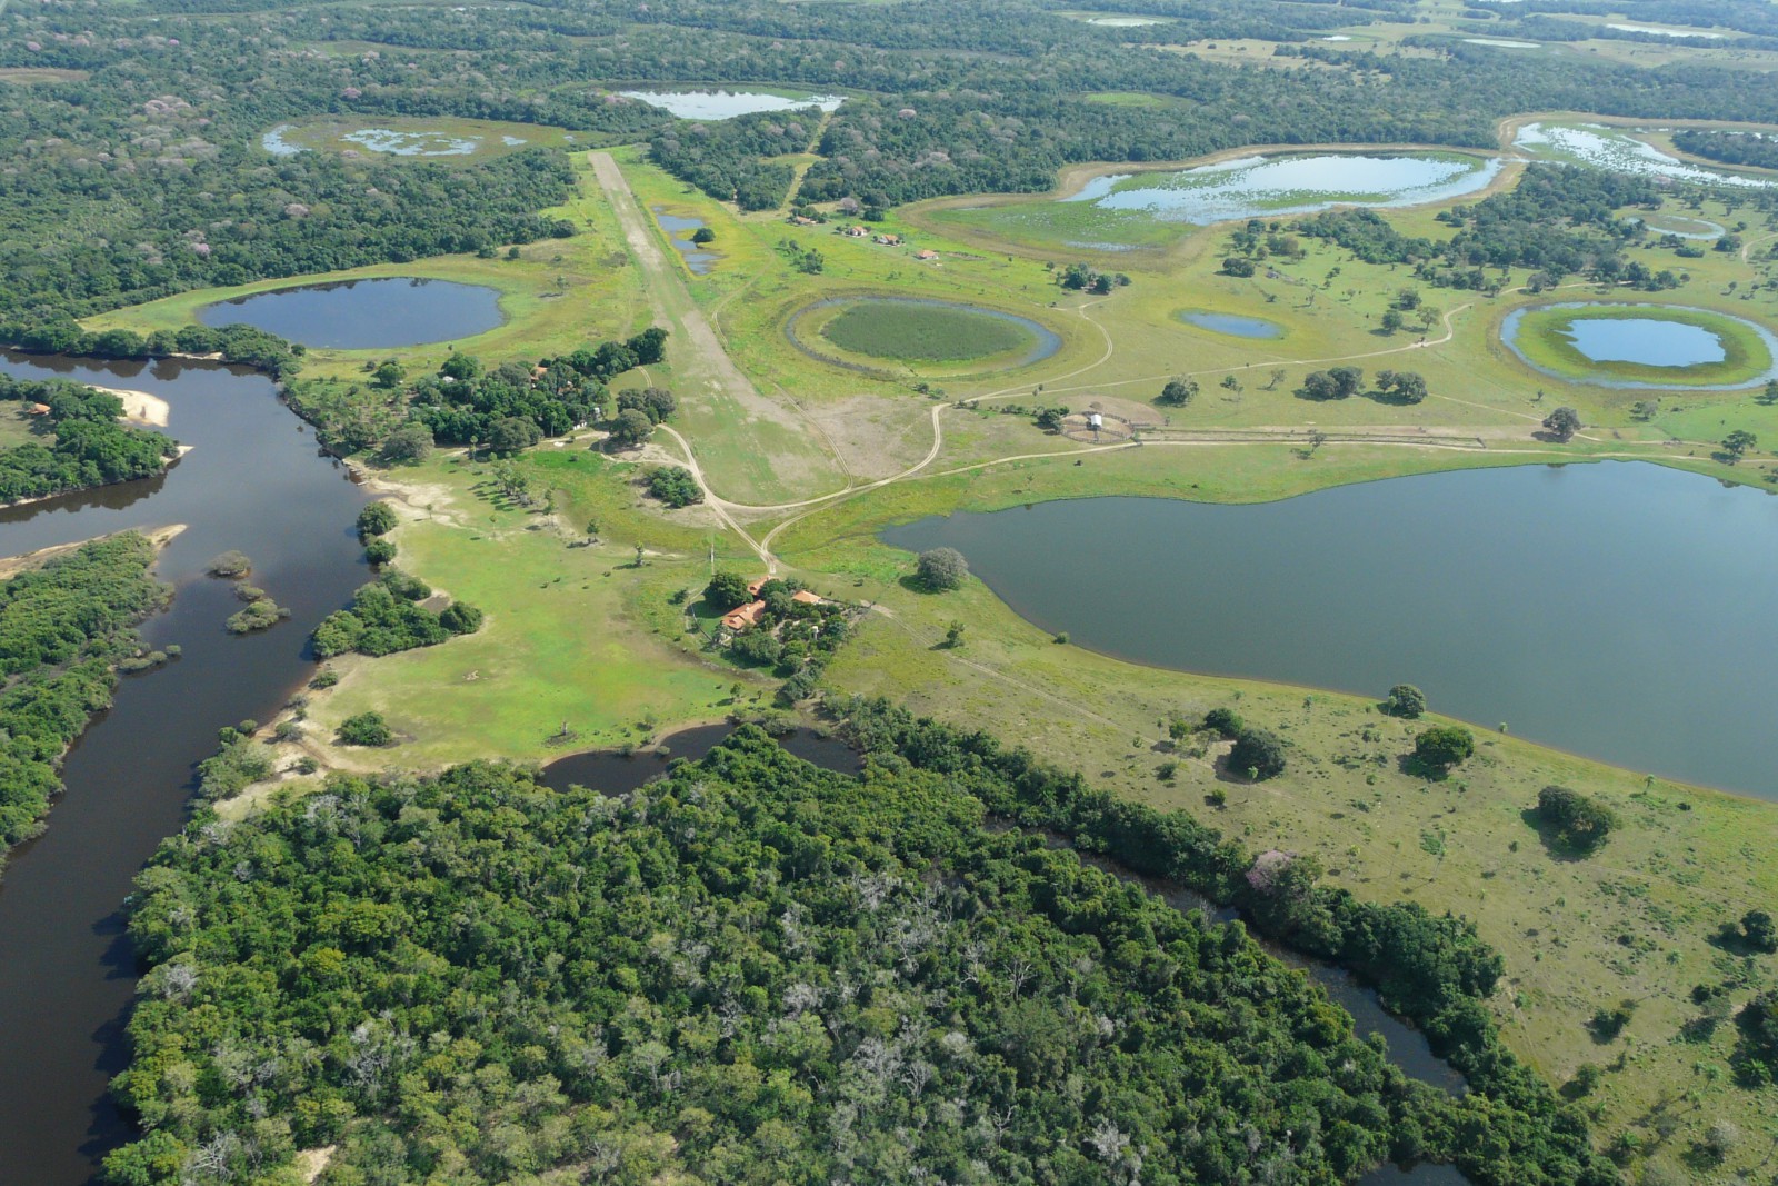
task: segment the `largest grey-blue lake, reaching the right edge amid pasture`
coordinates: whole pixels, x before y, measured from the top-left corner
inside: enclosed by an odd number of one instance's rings
[[[1382,697],[1778,798],[1778,498],[1650,462],[1390,478],[1259,505],[1092,498],[884,532],[1045,631]],[[1056,564],[1067,555],[1067,564]]]

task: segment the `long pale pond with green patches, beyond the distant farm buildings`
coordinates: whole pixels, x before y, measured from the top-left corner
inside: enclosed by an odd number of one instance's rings
[[[1065,203],[1204,226],[1334,206],[1414,206],[1485,188],[1501,162],[1460,153],[1241,156],[1177,172],[1113,172]]]

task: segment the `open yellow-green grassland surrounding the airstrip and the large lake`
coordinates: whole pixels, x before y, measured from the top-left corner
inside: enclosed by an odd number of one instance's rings
[[[581,165],[581,196],[562,212],[581,228],[574,238],[526,247],[514,261],[446,258],[315,279],[400,274],[494,284],[507,324],[455,343],[491,361],[558,354],[665,318],[674,327],[669,363],[633,382],[679,393],[674,427],[750,539],[709,507],[669,512],[645,498],[640,478],[651,464],[685,461],[667,434],[640,457],[608,457],[592,434],[532,450],[517,464],[546,494],[533,507],[501,500],[487,466],[461,453],[379,473],[404,507],[393,537],[400,564],[482,606],[487,624],[428,651],[340,663],[340,683],[309,693],[306,745],[315,756],[340,765],[548,761],[765,708],[773,683],[704,649],[686,615],[713,564],[759,574],[757,544],[781,573],[871,606],[829,669],[834,692],[891,695],[1024,743],[1125,795],[1191,811],[1250,845],[1316,852],[1355,894],[1460,910],[1506,955],[1510,983],[1494,1001],[1506,1040],[1554,1083],[1582,1065],[1606,1069],[1582,1101],[1602,1142],[1627,1142],[1630,1161],[1648,1154],[1687,1166],[1691,1143],[1726,1118],[1748,1140],[1725,1172],[1769,1156],[1778,1142],[1771,1094],[1734,1086],[1734,1026],[1689,1024],[1700,1010],[1687,994],[1696,983],[1773,980],[1773,967],[1742,966],[1709,937],[1721,921],[1778,900],[1778,805],[1582,761],[1492,722],[1478,725],[1476,761],[1428,782],[1394,761],[1410,747],[1408,725],[1364,697],[1149,669],[1058,645],[978,581],[942,597],[910,590],[901,578],[912,557],[877,539],[885,523],[960,507],[1092,494],[1255,501],[1414,471],[1593,457],[1766,484],[1778,475],[1769,452],[1739,466],[1712,459],[1732,429],[1758,434],[1766,450],[1778,443],[1778,407],[1760,402],[1758,388],[1614,391],[1540,375],[1501,341],[1501,322],[1517,308],[1645,301],[1625,290],[1575,284],[1533,295],[1522,292],[1522,272],[1499,276],[1497,295],[1428,288],[1406,268],[1367,265],[1307,238],[1300,254],[1275,254],[1253,277],[1237,279],[1220,272],[1229,228],[1095,254],[1017,244],[1019,228],[994,217],[980,226],[939,217],[944,203],[873,224],[905,240],[882,245],[839,235],[839,220],[800,228],[770,213],[741,217],[637,151],[617,160],[640,212],[660,204],[715,229],[722,260],[708,276],[688,276],[644,219],[661,260],[647,272],[626,236],[637,222],[619,217],[622,201]],[[1670,206],[1664,213],[1725,228],[1753,220],[1746,208],[1721,203]],[[1410,235],[1449,233],[1433,213],[1387,217]],[[1744,251],[1705,251],[1698,260],[1654,238],[1634,247],[1630,256],[1652,270],[1687,276],[1646,302],[1778,322],[1769,252],[1778,226],[1753,220],[1737,233]],[[825,258],[816,276],[795,267],[809,249]],[[919,260],[919,251],[937,260]],[[1074,260],[1127,272],[1131,284],[1108,297],[1063,292],[1056,272]],[[270,286],[187,293],[94,324],[178,325],[210,301]],[[1387,333],[1383,311],[1403,288],[1419,288],[1435,308]],[[791,345],[788,325],[798,311],[861,297],[1013,315],[1054,333],[1060,345],[1038,363],[980,375],[955,373],[955,357],[898,345],[919,338],[905,325],[829,324],[829,338],[855,331],[843,349],[861,356],[903,349],[894,373],[839,366]],[[1261,318],[1284,333],[1221,334],[1184,324],[1186,309]],[[690,349],[697,325],[711,329],[745,389]],[[932,345],[925,354],[957,349]],[[361,381],[366,363],[386,356],[420,370],[437,366],[444,347],[313,352],[306,373]],[[1305,373],[1342,363],[1371,373],[1421,372],[1431,395],[1412,407],[1296,397]],[[1200,395],[1186,407],[1157,405],[1170,375],[1197,379]],[[1047,436],[1031,409],[1054,404],[1124,416],[1143,425],[1145,443],[1093,450]],[[1538,436],[1561,404],[1586,423],[1568,445]],[[1024,411],[1008,414],[1012,405]],[[1328,443],[1303,448],[1310,430]],[[965,626],[964,647],[937,645],[951,621]],[[1293,743],[1291,770],[1257,786],[1230,784],[1218,779],[1214,752],[1163,750],[1170,718],[1218,704],[1278,727]],[[366,756],[327,745],[332,725],[370,708],[389,717],[400,747]],[[1179,761],[1170,779],[1157,775],[1163,761]],[[1558,859],[1520,814],[1545,784],[1598,795],[1623,829],[1590,861]],[[1216,789],[1227,795],[1221,807],[1209,804]],[[1634,1003],[1627,1030],[1595,1042],[1588,1017],[1622,1001]]]

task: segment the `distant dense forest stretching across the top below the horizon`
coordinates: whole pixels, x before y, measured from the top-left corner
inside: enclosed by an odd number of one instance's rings
[[[853,98],[821,128],[804,196],[871,206],[1042,190],[1070,162],[1243,144],[1492,148],[1495,123],[1524,110],[1778,119],[1778,92],[1703,66],[1545,60],[1460,39],[1437,57],[1380,57],[1314,41],[1334,23],[1398,14],[1382,0],[1152,7],[1177,21],[1106,28],[1021,0],[910,0],[894,20],[875,5],[775,0],[14,5],[0,14],[0,69],[39,76],[0,85],[7,320],[573,229],[539,213],[571,192],[560,153],[436,164],[261,146],[309,116],[464,116],[569,128],[583,146],[651,140],[665,167],[752,208],[784,197],[791,171],[770,158],[805,149],[820,121],[677,121],[617,92],[688,78],[845,91]],[[1563,5],[1515,7],[1556,21],[1545,12]],[[1718,9],[1735,5],[1661,7],[1668,20],[1728,20]],[[1314,48],[1328,69],[1237,69],[1159,48],[1202,36]],[[1102,91],[1156,101],[1092,101]]]

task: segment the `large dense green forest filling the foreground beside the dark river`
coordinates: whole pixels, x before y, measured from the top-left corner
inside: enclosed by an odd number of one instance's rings
[[[1494,1124],[1239,925],[756,729],[615,797],[334,777],[169,841],[130,928],[114,1182],[1312,1184]]]

